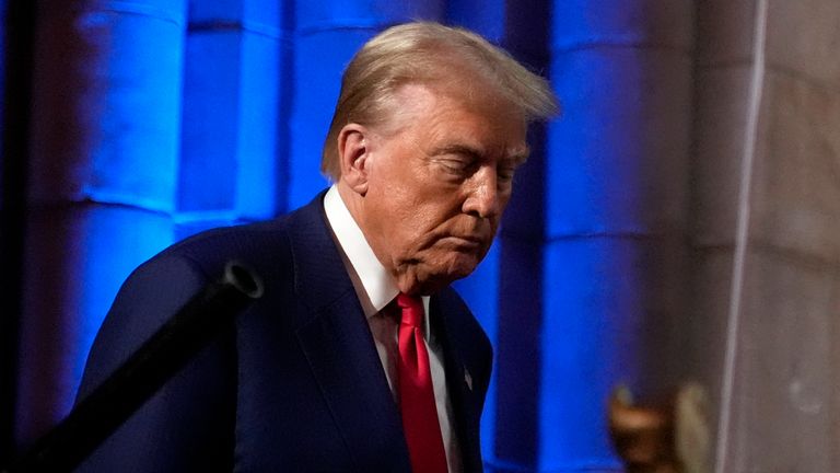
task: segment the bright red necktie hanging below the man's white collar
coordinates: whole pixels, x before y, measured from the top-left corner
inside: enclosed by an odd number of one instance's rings
[[[434,404],[429,351],[423,343],[423,303],[400,293],[399,406],[413,473],[447,472],[438,408]]]

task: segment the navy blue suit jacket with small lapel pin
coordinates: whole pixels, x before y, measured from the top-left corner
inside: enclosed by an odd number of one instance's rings
[[[101,472],[409,472],[399,411],[326,223],[323,193],[264,223],[177,243],[125,282],[91,350],[83,397],[238,259],[265,296],[82,464]],[[490,344],[454,290],[430,301],[455,434],[480,471]]]

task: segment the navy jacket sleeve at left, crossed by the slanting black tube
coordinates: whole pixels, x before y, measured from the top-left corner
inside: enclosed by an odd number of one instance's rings
[[[176,256],[159,256],[138,268],[120,289],[94,341],[78,399],[110,374],[207,280],[188,259]],[[231,471],[234,336],[223,334],[199,353],[78,471]]]

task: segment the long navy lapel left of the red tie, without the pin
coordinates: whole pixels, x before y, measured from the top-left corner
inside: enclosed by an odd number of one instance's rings
[[[290,221],[295,292],[306,307],[298,341],[357,469],[408,471],[399,412],[322,199]]]

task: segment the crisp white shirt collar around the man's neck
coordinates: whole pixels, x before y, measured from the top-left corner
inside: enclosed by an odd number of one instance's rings
[[[343,252],[348,273],[353,280],[353,287],[362,302],[364,316],[371,318],[380,313],[399,293],[396,282],[385,266],[380,263],[371,245],[365,240],[362,229],[350,215],[350,210],[341,199],[338,187],[334,184],[324,196],[324,211],[332,234]],[[429,297],[423,296],[425,312],[425,338],[429,339]]]

